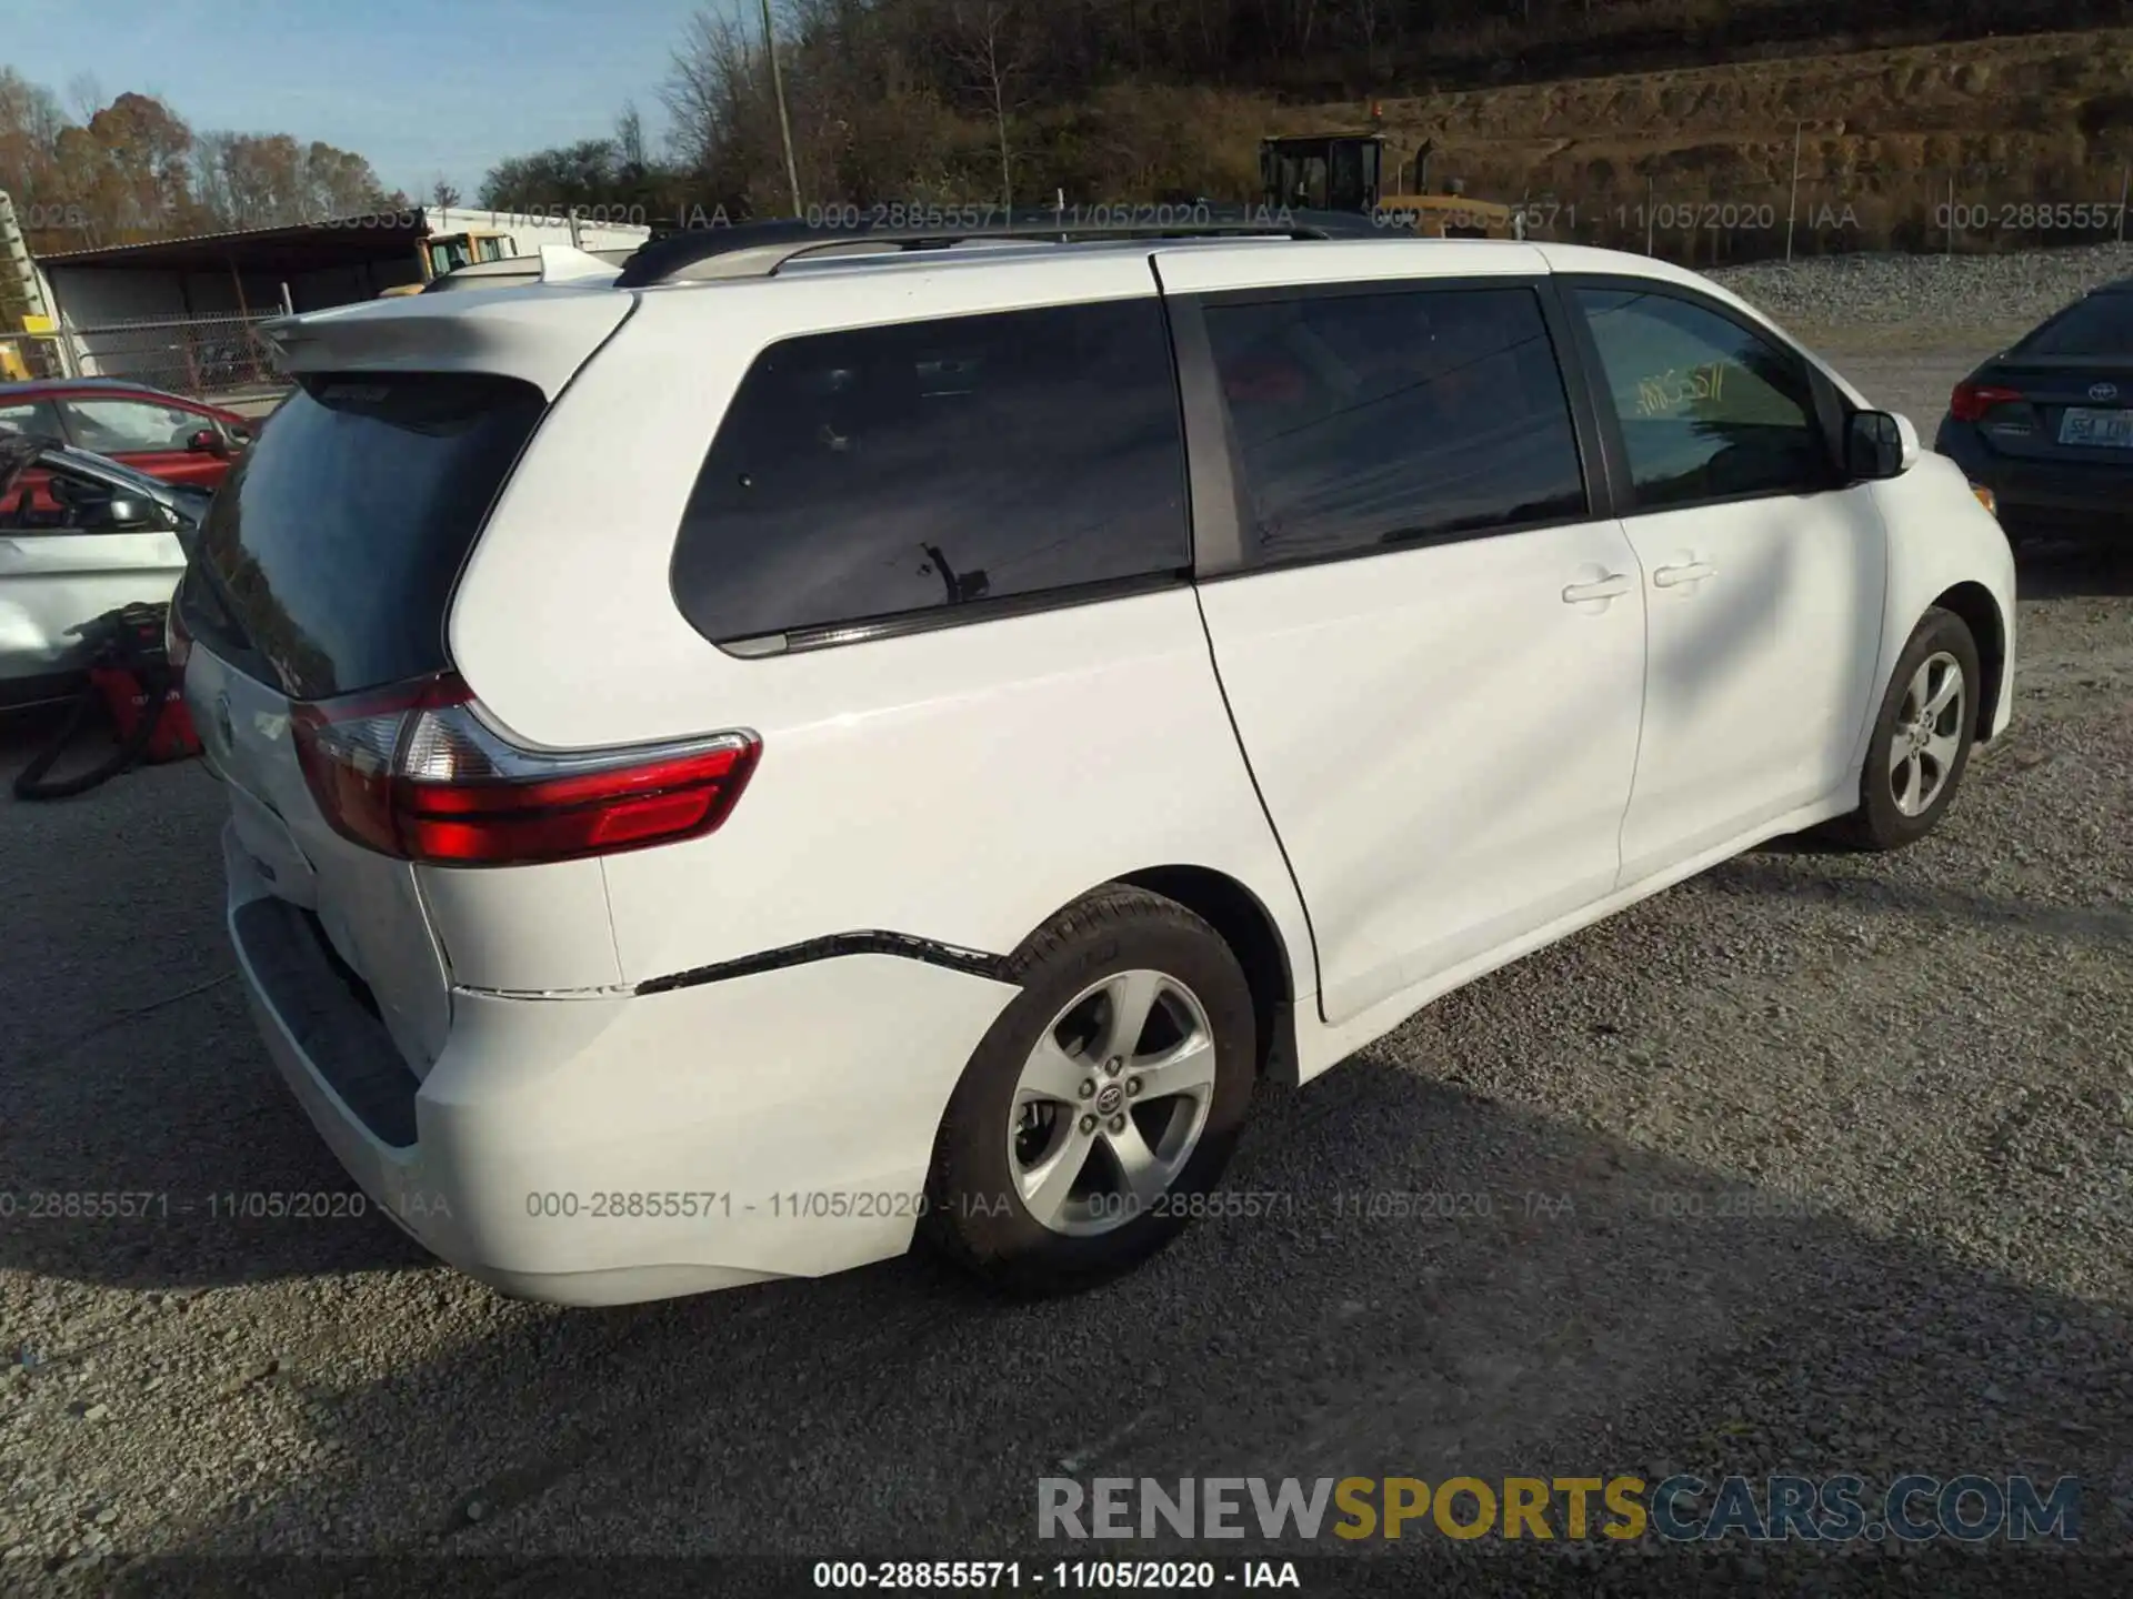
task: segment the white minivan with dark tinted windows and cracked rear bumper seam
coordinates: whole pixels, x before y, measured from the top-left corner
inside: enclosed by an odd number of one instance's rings
[[[1990,512],[1687,271],[904,243],[294,318],[209,512],[260,1030],[506,1292],[1118,1273],[1258,1075],[2007,725]]]

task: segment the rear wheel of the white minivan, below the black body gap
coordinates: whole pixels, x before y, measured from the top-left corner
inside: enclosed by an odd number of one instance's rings
[[[1111,885],[1015,953],[934,1141],[926,1237],[1015,1294],[1088,1288],[1162,1249],[1222,1177],[1256,1021],[1222,936]]]

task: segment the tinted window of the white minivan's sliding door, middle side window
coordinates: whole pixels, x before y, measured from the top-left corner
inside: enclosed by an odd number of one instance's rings
[[[1529,288],[1209,305],[1207,339],[1265,563],[1585,516]]]

